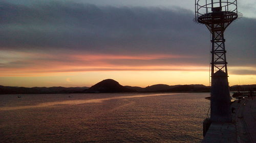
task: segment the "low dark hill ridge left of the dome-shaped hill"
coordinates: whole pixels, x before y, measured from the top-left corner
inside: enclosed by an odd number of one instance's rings
[[[0,85],[0,94],[65,94],[65,93],[82,93],[88,87],[75,87],[75,88],[64,88],[64,87],[5,87]]]

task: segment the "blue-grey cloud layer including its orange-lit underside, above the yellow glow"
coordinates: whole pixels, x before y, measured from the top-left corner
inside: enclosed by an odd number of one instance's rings
[[[189,10],[66,1],[0,5],[0,48],[6,53],[0,57],[0,68],[6,72],[71,67],[73,71],[150,70],[144,68],[150,66],[174,70],[209,63],[210,34],[205,26],[193,23],[194,13]],[[230,66],[255,67],[255,23],[255,19],[242,18],[227,28]],[[59,69],[54,68],[57,65]]]

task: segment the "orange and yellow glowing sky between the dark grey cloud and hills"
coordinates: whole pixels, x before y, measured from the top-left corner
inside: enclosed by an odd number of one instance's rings
[[[122,85],[138,87],[153,84],[209,85],[209,67],[202,63],[196,65],[194,62],[184,62],[200,59],[196,56],[175,54],[49,54],[18,51],[14,51],[14,53],[5,51],[2,53],[2,57],[5,58],[6,63],[21,63],[22,66],[9,64],[2,67],[0,85],[91,87],[108,78],[115,79]],[[172,60],[175,60],[176,63],[172,63]],[[256,70],[254,67],[246,66],[228,68],[231,73],[232,71],[236,72],[237,69]],[[229,74],[229,76],[231,85],[241,83],[241,79],[247,80],[245,84],[255,83],[253,81],[255,75]],[[238,78],[238,80],[233,77]],[[80,80],[84,80],[84,82]]]

